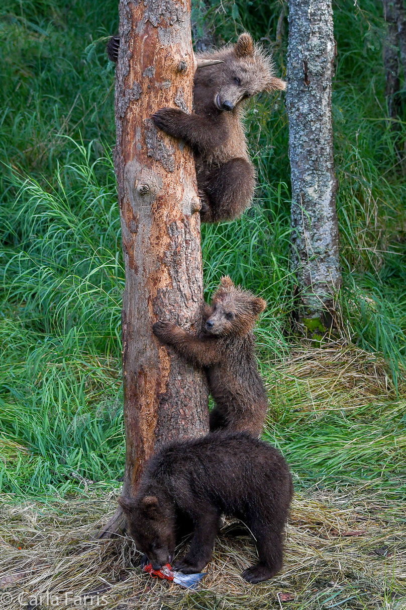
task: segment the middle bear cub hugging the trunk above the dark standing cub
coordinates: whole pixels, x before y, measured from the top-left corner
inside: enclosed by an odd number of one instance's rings
[[[267,393],[255,357],[253,326],[266,303],[248,290],[222,278],[206,305],[206,323],[200,336],[170,321],[158,321],[153,332],[187,360],[204,367],[215,407],[210,430],[248,430],[260,434],[267,412]]]

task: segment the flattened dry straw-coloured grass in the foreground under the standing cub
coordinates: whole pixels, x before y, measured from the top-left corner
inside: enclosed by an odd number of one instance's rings
[[[362,492],[296,496],[284,569],[256,586],[240,578],[256,561],[254,546],[248,536],[227,534],[226,525],[201,589],[192,594],[142,574],[131,540],[92,539],[115,507],[113,497],[4,506],[0,607],[26,608],[30,596],[43,594],[41,608],[51,607],[55,596],[58,608],[74,608],[74,600],[83,604],[97,590],[100,607],[123,609],[278,607],[281,592],[290,594],[284,605],[292,608],[343,608],[344,600],[351,608],[406,607],[405,511]]]

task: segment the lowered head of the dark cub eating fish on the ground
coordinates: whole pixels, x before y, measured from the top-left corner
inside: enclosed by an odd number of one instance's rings
[[[163,501],[154,495],[119,498],[127,517],[128,533],[137,550],[145,553],[154,570],[170,564],[175,551],[175,521]]]

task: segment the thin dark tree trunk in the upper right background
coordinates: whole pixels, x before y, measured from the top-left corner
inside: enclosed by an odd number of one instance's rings
[[[387,35],[383,46],[383,66],[385,68],[385,96],[388,115],[396,118],[399,114],[399,32],[397,30],[399,2],[383,0],[383,18],[387,22]]]

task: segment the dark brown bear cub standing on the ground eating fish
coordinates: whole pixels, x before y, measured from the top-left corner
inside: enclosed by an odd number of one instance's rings
[[[211,561],[220,516],[237,517],[253,534],[259,562],[242,573],[248,583],[282,567],[282,529],[293,495],[279,451],[249,432],[218,431],[173,442],[145,467],[134,498],[120,498],[136,547],[154,569],[170,563],[177,526],[192,522],[189,552],[172,569],[201,572]]]

